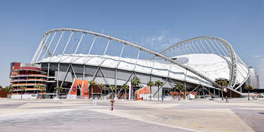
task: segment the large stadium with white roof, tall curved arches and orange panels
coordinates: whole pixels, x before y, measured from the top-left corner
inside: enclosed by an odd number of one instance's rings
[[[217,80],[225,80],[224,96],[242,97],[245,85],[259,88],[259,78],[232,45],[215,36],[175,43],[151,50],[103,33],[57,28],[43,34],[30,63],[12,63],[11,98],[115,98],[157,100],[160,97],[221,97]],[[133,78],[139,78],[133,85]],[[157,80],[164,85],[149,87]],[[99,85],[92,85],[95,81]],[[177,83],[183,91],[175,91]],[[128,89],[122,89],[122,85]],[[45,87],[41,91],[36,85]],[[19,87],[24,86],[21,90]],[[115,90],[110,87],[115,86]],[[62,87],[61,92],[54,87]],[[113,91],[113,92],[112,92]]]

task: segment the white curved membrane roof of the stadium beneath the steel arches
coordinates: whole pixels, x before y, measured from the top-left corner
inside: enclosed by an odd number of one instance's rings
[[[175,56],[176,61],[184,65],[188,65],[193,69],[197,70],[202,74],[205,74],[208,78],[212,80],[217,80],[219,78],[225,78],[229,80],[230,78],[230,67],[228,63],[230,58],[219,56],[216,54],[187,54],[182,56]],[[61,59],[61,61],[60,61]],[[93,65],[109,68],[123,69],[127,71],[135,71],[144,74],[153,74],[156,76],[162,76],[164,78],[169,77],[176,80],[185,80],[195,84],[203,84],[207,86],[212,86],[206,80],[203,80],[199,76],[186,71],[186,69],[179,67],[178,65],[171,65],[167,61],[153,61],[153,60],[142,60],[134,58],[120,58],[118,56],[101,56],[101,55],[89,55],[87,54],[65,54],[63,56],[53,56],[44,58],[43,61],[39,63],[73,63],[80,65]],[[153,67],[153,68],[152,68]],[[241,76],[237,76],[237,83],[242,83],[244,78],[247,76],[248,72],[244,69],[244,65],[239,65],[239,71],[241,71]]]

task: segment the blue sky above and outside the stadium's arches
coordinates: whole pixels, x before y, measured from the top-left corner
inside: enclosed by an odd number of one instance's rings
[[[160,51],[196,36],[232,44],[264,87],[264,1],[0,1],[0,85],[11,62],[30,62],[52,28],[92,30]],[[160,45],[162,44],[162,45]]]

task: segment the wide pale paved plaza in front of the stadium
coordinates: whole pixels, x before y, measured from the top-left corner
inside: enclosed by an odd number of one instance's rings
[[[264,131],[264,100],[0,98],[0,131]]]

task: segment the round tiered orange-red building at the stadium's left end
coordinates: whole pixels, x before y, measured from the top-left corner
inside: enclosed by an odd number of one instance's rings
[[[11,98],[38,98],[39,94],[44,94],[35,86],[47,85],[47,73],[41,71],[41,65],[29,63],[11,63],[10,83],[13,87]],[[19,87],[25,87],[25,91],[21,91]]]

